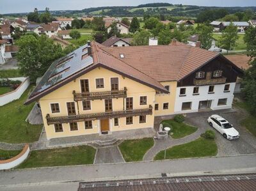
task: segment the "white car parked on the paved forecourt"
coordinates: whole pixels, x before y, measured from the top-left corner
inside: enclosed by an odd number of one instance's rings
[[[233,125],[230,125],[230,123],[221,116],[212,115],[207,119],[207,121],[209,125],[218,130],[218,132],[220,132],[226,139],[232,140],[239,138],[239,132],[237,132]]]

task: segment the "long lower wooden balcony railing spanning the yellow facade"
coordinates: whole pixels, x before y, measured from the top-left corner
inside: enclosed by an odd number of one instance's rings
[[[94,114],[81,114],[74,116],[60,116],[60,117],[50,117],[49,114],[46,115],[47,124],[56,124],[56,123],[72,123],[86,120],[95,120],[95,119],[108,119],[108,118],[126,118],[132,116],[144,116],[152,115],[152,105],[149,105],[147,109],[131,109],[124,111],[111,111],[111,112],[100,112]]]

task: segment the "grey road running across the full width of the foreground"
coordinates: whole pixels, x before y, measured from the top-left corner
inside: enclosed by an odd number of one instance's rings
[[[79,181],[124,180],[207,174],[256,172],[256,155],[188,158],[155,162],[77,165],[0,172],[0,190],[28,186],[57,185]],[[37,190],[37,189],[35,189]]]

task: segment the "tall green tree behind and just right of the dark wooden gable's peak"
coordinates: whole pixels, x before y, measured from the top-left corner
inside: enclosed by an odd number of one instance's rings
[[[227,26],[220,38],[220,45],[222,49],[226,49],[227,53],[229,50],[232,50],[238,39],[237,27],[231,22],[229,26]]]

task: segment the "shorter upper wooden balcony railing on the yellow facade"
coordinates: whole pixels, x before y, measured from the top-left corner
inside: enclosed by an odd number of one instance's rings
[[[99,91],[99,92],[88,92],[88,93],[76,93],[73,91],[74,101],[81,100],[103,100],[111,98],[126,98],[127,88],[124,90],[113,90],[113,91]]]

